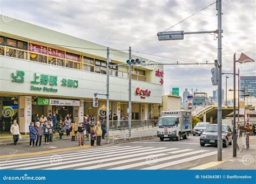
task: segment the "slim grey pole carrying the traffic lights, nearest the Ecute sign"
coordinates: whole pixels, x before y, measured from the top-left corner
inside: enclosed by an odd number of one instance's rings
[[[132,59],[132,49],[129,47],[129,60]],[[129,129],[129,139],[131,138],[132,129],[132,66],[129,65],[129,119],[128,119],[128,129]]]

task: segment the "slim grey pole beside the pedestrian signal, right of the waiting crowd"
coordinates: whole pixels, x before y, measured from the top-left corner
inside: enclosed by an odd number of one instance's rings
[[[106,84],[106,97],[107,97],[107,113],[106,113],[106,143],[109,144],[109,47],[107,47],[107,58],[106,58],[106,73],[107,73],[107,84]]]

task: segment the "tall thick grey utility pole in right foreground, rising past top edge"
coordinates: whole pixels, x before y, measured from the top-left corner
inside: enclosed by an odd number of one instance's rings
[[[219,62],[219,84],[218,84],[218,161],[222,160],[222,147],[223,147],[223,141],[221,139],[222,136],[222,43],[221,43],[221,0],[217,0],[216,8],[218,10],[218,62]]]

